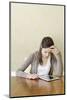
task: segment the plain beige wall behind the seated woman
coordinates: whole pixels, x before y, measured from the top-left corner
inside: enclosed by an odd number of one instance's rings
[[[51,36],[64,63],[64,6],[11,4],[11,69],[39,49],[41,39]]]

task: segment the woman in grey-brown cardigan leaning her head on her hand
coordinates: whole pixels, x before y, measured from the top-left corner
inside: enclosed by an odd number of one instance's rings
[[[30,74],[25,73],[31,64]],[[28,79],[38,79],[38,75],[62,76],[62,59],[60,51],[54,46],[51,37],[42,39],[39,51],[32,53],[17,70],[16,76]]]

